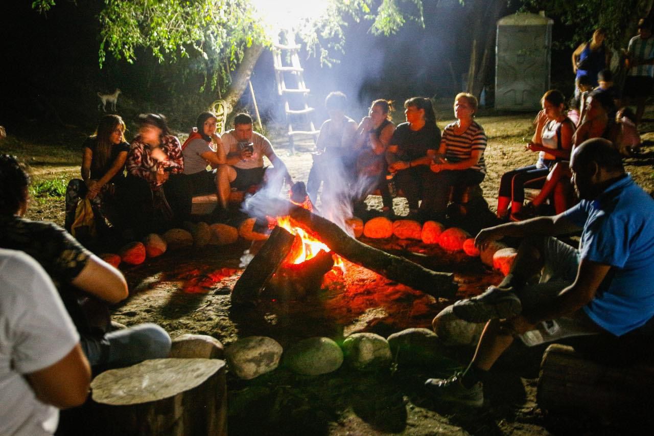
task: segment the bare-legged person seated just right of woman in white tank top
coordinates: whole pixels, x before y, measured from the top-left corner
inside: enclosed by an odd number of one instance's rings
[[[608,117],[608,111],[613,105],[613,99],[606,92],[594,90],[587,98],[587,109],[581,125],[574,132],[572,137],[572,151],[577,145],[593,137],[603,137],[611,142],[615,142],[616,125],[615,119]],[[538,208],[554,194],[555,212],[562,213],[577,202],[570,185],[570,168],[567,160],[558,162],[547,175],[547,179],[542,189],[531,202],[528,202],[519,213],[511,216],[511,219],[517,221],[535,217],[538,214]]]

